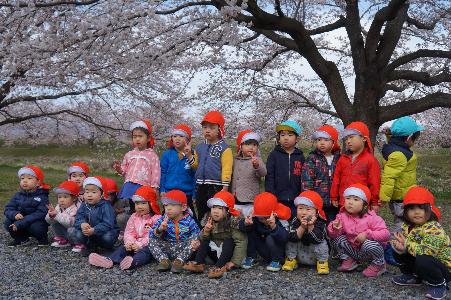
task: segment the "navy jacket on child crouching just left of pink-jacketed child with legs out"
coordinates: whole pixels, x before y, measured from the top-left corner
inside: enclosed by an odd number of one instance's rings
[[[81,204],[75,216],[74,227],[81,230],[82,223],[91,225],[95,236],[102,236],[110,230],[119,230],[113,206],[104,199],[95,205],[89,205],[86,202]]]

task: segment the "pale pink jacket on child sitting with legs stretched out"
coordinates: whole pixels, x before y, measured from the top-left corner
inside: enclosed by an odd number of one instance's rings
[[[130,216],[125,227],[124,244],[137,243],[140,248],[149,244],[149,231],[158,221],[160,215],[140,216],[134,213]]]

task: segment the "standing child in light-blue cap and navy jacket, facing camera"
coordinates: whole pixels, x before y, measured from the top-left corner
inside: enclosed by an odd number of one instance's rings
[[[278,145],[268,156],[265,177],[265,191],[274,194],[277,199],[296,215],[293,200],[301,192],[301,173],[304,154],[296,148],[301,135],[301,127],[288,120],[276,127]]]

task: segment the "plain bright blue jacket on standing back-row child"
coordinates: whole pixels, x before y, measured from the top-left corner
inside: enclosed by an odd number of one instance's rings
[[[160,192],[181,190],[187,196],[192,196],[196,179],[186,156],[179,157],[174,147],[163,152],[160,160],[161,178]]]

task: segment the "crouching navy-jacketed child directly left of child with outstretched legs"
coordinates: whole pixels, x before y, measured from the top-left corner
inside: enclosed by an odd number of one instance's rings
[[[96,247],[112,249],[119,235],[114,209],[104,199],[105,183],[101,177],[88,177],[83,181],[84,202],[75,217],[75,230],[69,239],[80,245],[73,248],[88,256]]]

